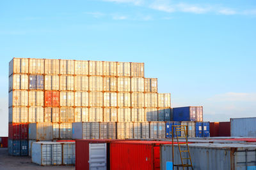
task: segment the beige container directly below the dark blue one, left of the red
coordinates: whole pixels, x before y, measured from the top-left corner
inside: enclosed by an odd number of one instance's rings
[[[44,106],[43,91],[29,91],[29,106]]]

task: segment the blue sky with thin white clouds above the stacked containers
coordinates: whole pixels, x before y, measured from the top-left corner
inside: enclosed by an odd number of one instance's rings
[[[172,106],[204,120],[256,115],[256,2],[1,1],[0,136],[12,57],[145,62]]]

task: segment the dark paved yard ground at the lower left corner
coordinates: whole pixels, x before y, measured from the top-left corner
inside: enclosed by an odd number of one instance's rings
[[[0,170],[75,169],[74,166],[38,166],[31,163],[30,157],[12,157],[8,148],[0,148]]]

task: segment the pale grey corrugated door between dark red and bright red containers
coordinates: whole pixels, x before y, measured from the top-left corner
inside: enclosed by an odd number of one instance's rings
[[[90,170],[107,169],[106,143],[89,143],[89,167]]]

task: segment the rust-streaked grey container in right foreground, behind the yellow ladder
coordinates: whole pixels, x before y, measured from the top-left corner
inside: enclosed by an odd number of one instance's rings
[[[186,146],[180,146],[186,150]],[[243,144],[220,143],[191,143],[189,151],[194,169],[255,169],[256,146]],[[161,169],[172,162],[172,145],[161,145],[160,148]],[[188,158],[188,152],[183,152],[182,157]],[[200,159],[199,159],[200,158]],[[184,160],[185,164],[189,160]],[[180,153],[177,145],[174,146],[174,164],[181,164]],[[169,167],[170,168],[170,167]]]

